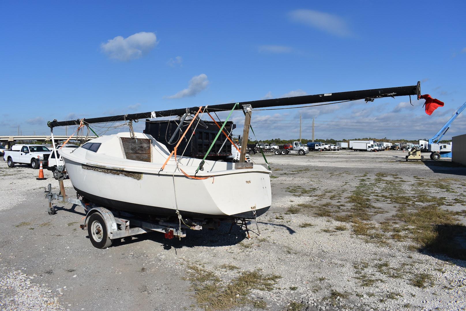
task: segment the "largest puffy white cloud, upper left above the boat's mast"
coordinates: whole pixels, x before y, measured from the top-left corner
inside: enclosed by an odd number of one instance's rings
[[[132,34],[128,38],[117,36],[102,43],[100,48],[111,59],[118,61],[130,61],[141,58],[157,45],[157,37],[154,33],[140,32]]]

